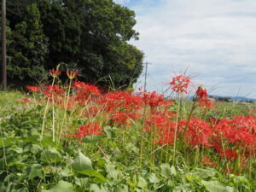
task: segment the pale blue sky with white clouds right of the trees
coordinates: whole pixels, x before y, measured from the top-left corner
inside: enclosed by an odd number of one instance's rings
[[[114,0],[136,13],[147,90],[186,72],[191,93],[256,98],[256,0]],[[144,73],[144,72],[143,72]],[[144,83],[143,74],[137,87]]]

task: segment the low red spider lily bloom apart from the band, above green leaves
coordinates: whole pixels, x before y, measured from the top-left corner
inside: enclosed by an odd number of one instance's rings
[[[89,123],[88,125],[82,125],[78,128],[78,132],[73,134],[71,137],[86,137],[101,135],[102,128],[97,123]]]

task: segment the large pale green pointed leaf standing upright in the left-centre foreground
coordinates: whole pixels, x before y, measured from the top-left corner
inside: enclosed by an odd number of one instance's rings
[[[73,170],[74,171],[84,171],[91,169],[91,161],[88,157],[84,156],[79,150],[78,156],[73,161]]]

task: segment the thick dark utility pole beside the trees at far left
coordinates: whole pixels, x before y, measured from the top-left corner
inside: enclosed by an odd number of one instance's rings
[[[1,65],[1,88],[7,90],[6,77],[6,0],[2,0],[2,65]]]

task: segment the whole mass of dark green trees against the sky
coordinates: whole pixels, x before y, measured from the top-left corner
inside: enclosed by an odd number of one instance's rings
[[[143,70],[135,13],[112,0],[9,0],[9,79],[27,79],[64,62],[80,79],[127,87]]]

